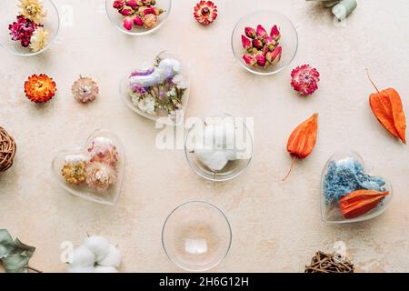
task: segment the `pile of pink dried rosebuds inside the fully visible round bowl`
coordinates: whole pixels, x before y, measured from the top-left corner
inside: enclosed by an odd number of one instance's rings
[[[273,26],[270,35],[263,25],[257,25],[255,30],[252,27],[245,27],[244,33],[242,44],[247,51],[243,55],[245,64],[267,67],[280,61],[283,48],[279,45],[281,34],[277,25]]]

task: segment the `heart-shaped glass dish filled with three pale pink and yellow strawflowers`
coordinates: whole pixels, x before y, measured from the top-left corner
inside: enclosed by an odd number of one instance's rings
[[[57,180],[75,196],[115,205],[125,169],[125,151],[118,137],[96,130],[85,147],[63,149],[55,156]]]

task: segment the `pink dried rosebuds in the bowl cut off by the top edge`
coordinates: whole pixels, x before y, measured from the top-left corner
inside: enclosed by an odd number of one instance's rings
[[[155,0],[115,0],[114,8],[125,16],[126,30],[132,30],[134,25],[153,28],[157,25],[157,16],[165,12],[155,7],[155,4]]]

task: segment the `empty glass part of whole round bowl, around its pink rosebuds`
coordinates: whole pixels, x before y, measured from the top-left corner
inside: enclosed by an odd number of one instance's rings
[[[281,60],[275,65],[260,67],[258,65],[247,65],[244,62],[243,55],[247,53],[242,44],[242,35],[245,35],[244,29],[245,27],[252,27],[255,30],[257,25],[263,25],[267,35],[270,35],[274,25],[277,25],[280,31],[279,45],[282,46],[283,52]],[[244,69],[256,75],[273,75],[280,72],[293,61],[297,48],[298,35],[295,26],[287,16],[279,12],[271,10],[255,11],[244,15],[234,26],[232,34],[233,54]]]

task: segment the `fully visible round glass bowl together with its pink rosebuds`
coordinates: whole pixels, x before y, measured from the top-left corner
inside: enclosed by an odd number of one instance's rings
[[[270,10],[244,15],[234,26],[232,49],[237,61],[257,75],[273,75],[289,65],[298,35],[287,16]]]

